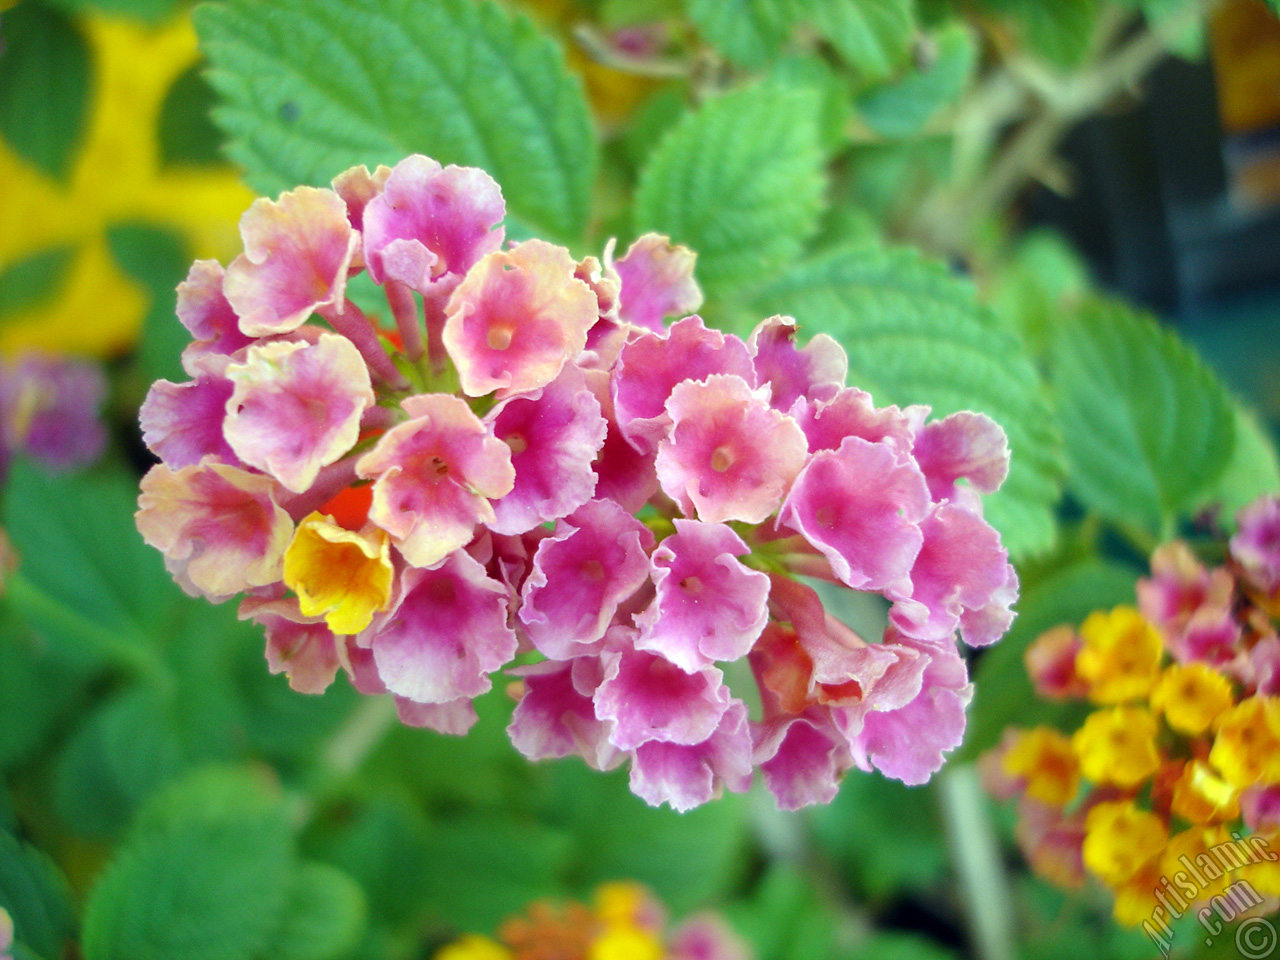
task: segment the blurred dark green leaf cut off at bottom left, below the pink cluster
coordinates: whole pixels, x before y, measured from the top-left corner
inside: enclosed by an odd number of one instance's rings
[[[95,883],[86,960],[255,960],[280,929],[292,869],[283,810],[174,806],[145,814]]]

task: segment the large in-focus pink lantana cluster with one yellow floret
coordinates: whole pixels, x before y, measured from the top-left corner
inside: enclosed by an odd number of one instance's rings
[[[964,730],[957,632],[1012,618],[1000,426],[877,407],[790,317],[708,328],[666,237],[576,260],[503,219],[488,174],[425,156],[255,201],[244,252],[178,288],[147,543],[188,593],[243,594],[297,690],[340,668],[463,733],[507,668],[521,753],[630,763],[652,804],[756,767],[786,808],[855,765],[927,780]],[[797,577],[883,595],[883,636]]]

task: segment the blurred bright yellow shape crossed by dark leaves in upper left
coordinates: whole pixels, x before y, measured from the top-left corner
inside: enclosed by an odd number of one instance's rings
[[[86,14],[78,23],[93,67],[87,127],[67,183],[0,141],[0,269],[60,247],[74,259],[60,291],[5,317],[0,352],[101,356],[128,347],[148,293],[115,264],[108,228],[154,224],[179,233],[193,257],[225,257],[253,198],[230,168],[161,166],[165,95],[198,56],[191,22],[151,27]]]

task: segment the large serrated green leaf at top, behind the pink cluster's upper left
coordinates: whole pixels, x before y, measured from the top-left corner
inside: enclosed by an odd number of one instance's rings
[[[215,115],[274,195],[412,152],[483,166],[508,207],[581,236],[596,143],[581,83],[524,17],[488,0],[229,0],[197,10]]]

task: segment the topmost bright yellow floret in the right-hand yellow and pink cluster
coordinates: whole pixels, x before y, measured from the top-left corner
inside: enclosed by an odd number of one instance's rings
[[[1146,698],[1160,678],[1160,632],[1133,607],[1094,611],[1080,625],[1075,672],[1094,703]]]

